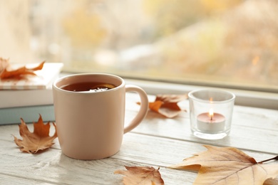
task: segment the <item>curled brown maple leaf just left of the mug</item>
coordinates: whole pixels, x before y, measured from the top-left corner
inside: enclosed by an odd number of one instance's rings
[[[30,132],[26,123],[21,118],[21,125],[19,125],[19,133],[23,140],[18,139],[14,136],[14,142],[20,147],[22,152],[28,152],[35,154],[38,150],[48,149],[52,146],[53,139],[57,137],[56,125],[52,123],[55,127],[55,133],[52,137],[49,136],[50,122],[46,125],[43,124],[43,119],[38,118],[38,122],[34,122],[34,132]]]

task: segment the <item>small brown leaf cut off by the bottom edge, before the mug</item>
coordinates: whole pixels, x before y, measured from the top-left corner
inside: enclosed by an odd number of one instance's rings
[[[116,170],[114,174],[122,174],[123,184],[156,184],[163,185],[164,181],[161,178],[159,168],[154,169],[150,166],[125,166],[127,170]]]

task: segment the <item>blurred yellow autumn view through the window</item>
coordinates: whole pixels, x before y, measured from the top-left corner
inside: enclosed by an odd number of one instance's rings
[[[0,0],[0,57],[278,92],[277,0]]]

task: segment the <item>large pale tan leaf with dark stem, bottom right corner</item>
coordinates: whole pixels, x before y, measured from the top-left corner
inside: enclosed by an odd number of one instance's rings
[[[256,162],[233,147],[207,146],[207,151],[184,159],[173,169],[199,170],[194,184],[258,184],[278,176],[278,163]]]

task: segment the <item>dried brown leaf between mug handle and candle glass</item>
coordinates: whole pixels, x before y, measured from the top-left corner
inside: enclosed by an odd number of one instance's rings
[[[178,102],[186,99],[187,95],[157,95],[154,102],[149,102],[149,108],[160,115],[173,118],[180,112],[186,111],[177,105]]]

